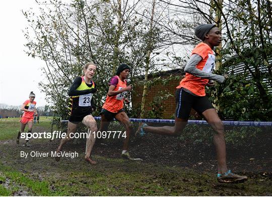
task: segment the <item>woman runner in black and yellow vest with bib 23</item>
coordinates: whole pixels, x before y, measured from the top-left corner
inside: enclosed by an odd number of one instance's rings
[[[64,144],[71,140],[71,133],[75,133],[77,126],[82,122],[88,127],[90,134],[86,144],[85,161],[91,165],[95,165],[96,161],[90,158],[93,145],[95,143],[95,132],[97,132],[97,124],[92,116],[95,110],[93,102],[93,94],[96,92],[96,84],[91,80],[96,73],[96,65],[92,62],[85,64],[83,67],[84,76],[77,77],[68,95],[70,96],[70,118],[68,122],[67,135],[61,139],[60,145],[56,150],[56,161],[60,160],[60,153]]]

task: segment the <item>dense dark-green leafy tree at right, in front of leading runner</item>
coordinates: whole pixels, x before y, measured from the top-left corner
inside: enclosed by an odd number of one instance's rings
[[[221,9],[226,29],[227,60],[219,73],[232,76],[224,85],[212,88],[211,94],[222,117],[235,120],[272,120],[271,96],[271,9],[265,1],[229,2]],[[238,12],[237,12],[238,11]],[[228,15],[226,15],[228,13]],[[269,14],[270,13],[270,14]],[[230,20],[231,19],[231,20]],[[243,64],[242,73],[236,73]]]

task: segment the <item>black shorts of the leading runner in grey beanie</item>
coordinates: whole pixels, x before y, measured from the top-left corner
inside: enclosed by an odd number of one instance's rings
[[[214,109],[207,96],[195,96],[178,88],[176,90],[176,117],[187,120],[192,108],[200,115],[206,110]]]

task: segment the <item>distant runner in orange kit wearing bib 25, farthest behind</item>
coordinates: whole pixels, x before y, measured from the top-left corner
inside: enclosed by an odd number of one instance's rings
[[[17,144],[19,144],[19,140],[20,140],[20,136],[21,133],[23,133],[25,131],[26,125],[28,125],[28,133],[32,132],[32,126],[33,126],[33,116],[35,114],[35,116],[37,116],[37,111],[36,111],[36,102],[34,101],[35,99],[35,94],[33,93],[33,91],[30,92],[29,94],[29,100],[26,100],[23,103],[23,106],[21,107],[21,110],[24,111],[24,114],[21,118],[21,131],[19,131],[18,136],[17,136]],[[29,145],[29,139],[26,140],[26,147],[30,147]]]

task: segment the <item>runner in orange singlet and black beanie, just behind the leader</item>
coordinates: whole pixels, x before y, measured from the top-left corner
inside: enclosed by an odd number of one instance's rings
[[[112,121],[114,118],[120,121],[125,127],[126,134],[121,157],[128,160],[142,160],[140,158],[131,158],[127,152],[129,136],[132,132],[132,125],[123,109],[123,102],[129,103],[129,101],[125,98],[125,93],[126,91],[131,91],[132,89],[131,85],[127,86],[126,84],[126,78],[128,77],[129,70],[130,68],[128,65],[121,64],[117,69],[116,75],[110,80],[106,102],[104,103],[100,113],[100,131],[106,131],[110,121]]]

